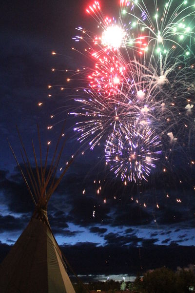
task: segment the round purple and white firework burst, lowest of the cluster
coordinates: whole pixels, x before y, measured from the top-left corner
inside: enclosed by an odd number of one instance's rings
[[[106,161],[122,180],[146,180],[162,152],[155,131],[139,124],[122,126],[108,136],[106,143]]]

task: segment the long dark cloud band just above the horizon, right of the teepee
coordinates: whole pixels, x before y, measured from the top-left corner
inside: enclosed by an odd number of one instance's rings
[[[102,247],[95,243],[79,243],[61,249],[79,274],[143,273],[162,266],[176,270],[177,266],[186,267],[195,263],[195,247],[176,246],[173,243],[169,246],[146,243],[144,247]]]

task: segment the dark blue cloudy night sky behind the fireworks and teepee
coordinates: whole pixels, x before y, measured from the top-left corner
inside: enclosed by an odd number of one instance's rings
[[[117,0],[103,2],[103,9],[109,11]],[[71,90],[60,94],[54,91],[49,98],[48,85],[70,86],[66,82],[68,73],[53,73],[52,68],[77,70],[82,65],[90,66],[86,57],[71,49],[78,25],[93,30],[93,21],[85,13],[87,4],[80,0],[1,2],[0,260],[33,211],[7,143],[8,138],[20,157],[16,125],[32,162],[31,139],[38,143],[37,123],[43,146],[51,141],[52,154],[61,121],[67,119],[62,165],[81,150],[72,130],[75,121],[65,113]],[[52,51],[62,55],[53,56]],[[53,114],[57,114],[56,126],[47,130]],[[176,176],[158,172],[143,187],[124,186],[105,168],[102,149],[86,148],[83,156],[77,156],[48,206],[51,228],[75,272],[136,274],[163,265],[176,269],[195,263],[193,171],[188,181],[185,178],[189,176],[177,168]],[[181,185],[175,180],[178,177],[183,178]]]

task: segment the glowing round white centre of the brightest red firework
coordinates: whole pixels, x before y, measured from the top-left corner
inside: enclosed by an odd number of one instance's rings
[[[125,41],[125,31],[119,26],[109,26],[103,31],[101,44],[110,49],[118,49]]]

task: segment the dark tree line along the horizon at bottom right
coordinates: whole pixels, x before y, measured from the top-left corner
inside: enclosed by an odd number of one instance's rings
[[[106,282],[90,282],[88,284],[74,284],[76,293],[89,291],[116,291],[140,292],[140,293],[190,293],[195,292],[195,268],[178,268],[176,272],[165,267],[150,270],[142,277],[137,276],[132,282],[119,282],[107,280]]]

